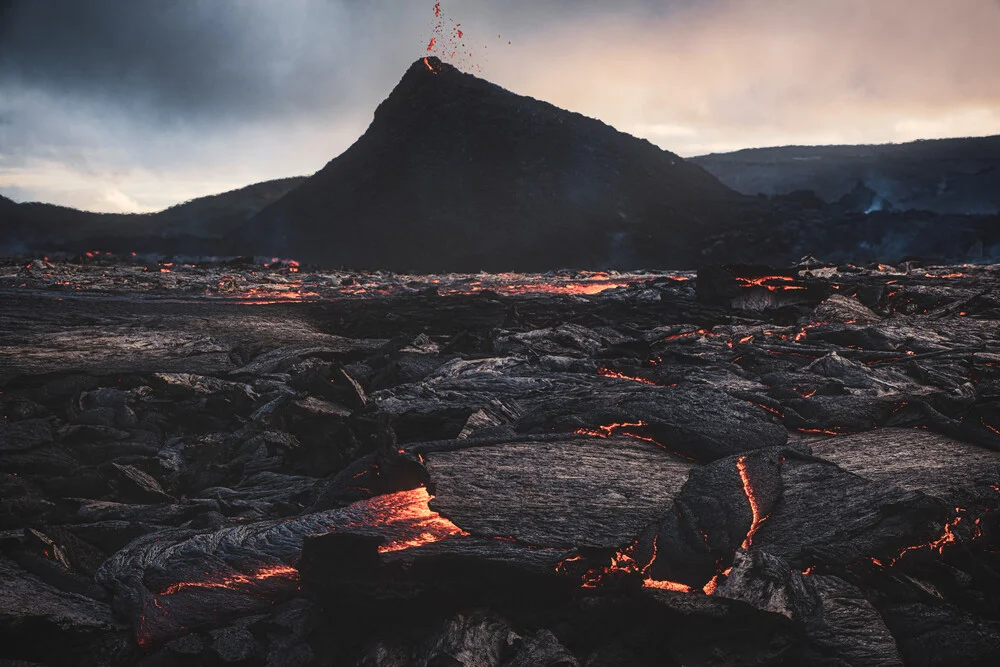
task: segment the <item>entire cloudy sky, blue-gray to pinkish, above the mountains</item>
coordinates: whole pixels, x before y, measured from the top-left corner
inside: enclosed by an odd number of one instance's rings
[[[154,211],[313,173],[432,36],[683,156],[1000,134],[1000,0],[434,5],[0,0],[0,194]]]

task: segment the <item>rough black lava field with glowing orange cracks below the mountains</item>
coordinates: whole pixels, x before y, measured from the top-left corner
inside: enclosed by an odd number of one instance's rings
[[[5,262],[0,658],[995,665],[998,285]]]

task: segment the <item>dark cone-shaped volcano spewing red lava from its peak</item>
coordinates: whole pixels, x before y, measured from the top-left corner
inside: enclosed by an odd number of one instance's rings
[[[681,266],[742,199],[648,141],[429,57],[246,238],[372,269]]]

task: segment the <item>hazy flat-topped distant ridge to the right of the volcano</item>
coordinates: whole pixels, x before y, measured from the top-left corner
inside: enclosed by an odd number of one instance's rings
[[[744,194],[813,190],[833,203],[859,183],[875,210],[1000,211],[1000,135],[860,146],[747,148],[691,158]]]

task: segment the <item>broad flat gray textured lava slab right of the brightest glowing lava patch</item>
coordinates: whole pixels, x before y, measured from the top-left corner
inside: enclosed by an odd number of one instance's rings
[[[473,533],[546,547],[628,541],[669,507],[692,467],[629,438],[470,442],[424,457],[434,509]]]

